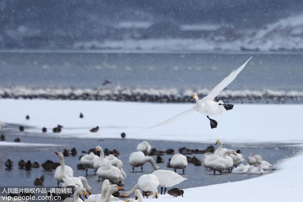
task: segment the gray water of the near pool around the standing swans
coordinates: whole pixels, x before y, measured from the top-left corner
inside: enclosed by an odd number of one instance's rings
[[[75,147],[78,151],[76,157],[65,157],[66,165],[70,166],[74,170],[74,176],[85,176],[84,170],[77,170],[76,165],[79,164],[79,156],[81,151],[88,151],[90,148],[95,148],[96,146],[101,146],[103,149],[108,148],[109,150],[117,149],[120,152],[119,159],[123,161],[123,169],[126,172],[125,185],[123,189],[126,191],[130,190],[134,184],[137,182],[137,179],[142,174],[152,173],[154,170],[152,166],[147,163],[143,166],[143,173],[141,173],[140,168],[135,168],[135,172],[132,173],[132,167],[128,163],[128,157],[131,152],[136,151],[136,146],[142,140],[129,140],[129,139],[73,139],[73,138],[49,138],[49,137],[38,137],[38,136],[29,136],[20,135],[16,130],[4,130],[6,134],[6,141],[13,141],[17,135],[21,138],[22,142],[30,143],[47,143],[47,144],[58,144],[58,145],[69,145],[67,149]],[[173,148],[175,153],[178,153],[178,148],[186,147],[191,149],[205,149],[211,144],[202,144],[202,143],[185,143],[185,142],[166,142],[166,141],[148,141],[152,148],[157,150],[165,151],[168,148]],[[215,145],[214,145],[215,146]],[[215,146],[216,147],[216,146]],[[247,157],[250,153],[260,154],[264,160],[270,162],[271,164],[276,164],[280,159],[285,157],[290,157],[295,153],[294,148],[289,148],[283,144],[224,144],[224,147],[237,150],[240,149],[244,158]],[[53,177],[54,171],[43,171],[43,168],[33,168],[30,171],[20,170],[17,166],[18,162],[23,159],[24,161],[30,160],[32,162],[38,161],[40,164],[46,160],[52,160],[59,162],[59,158],[54,152],[63,152],[61,147],[4,147],[0,146],[0,187],[3,186],[34,186],[34,180],[41,175],[45,176],[45,186],[57,186],[57,182]],[[85,154],[84,154],[85,155]],[[202,161],[201,154],[188,155],[190,157],[195,156]],[[164,163],[157,164],[161,169],[169,169],[166,167],[168,159],[172,155],[164,155]],[[15,166],[12,170],[7,170],[5,167],[5,161],[11,159],[15,162]],[[153,156],[156,160],[156,156]],[[244,161],[245,163],[245,161]],[[246,164],[246,163],[245,163]],[[274,165],[271,169],[275,169]],[[274,172],[272,170],[266,171],[266,173]],[[181,174],[181,170],[177,170],[177,173]],[[89,170],[87,180],[89,185],[92,187],[93,194],[99,194],[101,191],[102,181],[98,182],[98,177],[93,175],[93,170]],[[211,184],[218,183],[227,183],[235,182],[240,180],[245,180],[257,175],[247,175],[247,174],[231,174],[223,173],[222,175],[213,175],[213,171],[206,171],[204,166],[194,166],[189,164],[186,167],[185,174],[183,177],[187,178],[184,182],[174,186],[178,188],[190,188],[190,187],[199,187],[206,186]],[[172,187],[173,188],[173,187]],[[159,188],[160,189],[160,188]]]

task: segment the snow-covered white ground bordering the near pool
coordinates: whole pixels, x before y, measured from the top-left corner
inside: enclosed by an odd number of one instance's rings
[[[0,120],[34,126],[28,132],[40,135],[41,128],[48,135],[77,138],[126,138],[214,143],[217,139],[229,143],[303,143],[301,124],[303,105],[235,105],[218,117],[217,129],[210,129],[209,121],[201,114],[154,129],[152,126],[190,108],[191,104],[151,104],[107,101],[45,101],[0,100]],[[84,115],[79,118],[79,113]],[[30,120],[26,120],[26,115]],[[50,130],[57,124],[64,126],[59,134]],[[90,133],[92,127],[98,133]],[[45,136],[44,134],[43,136]],[[284,160],[273,174],[235,183],[225,183],[185,190],[184,198],[162,195],[157,201],[169,200],[245,200],[285,201],[302,200],[303,155]],[[148,199],[152,200],[152,199]]]

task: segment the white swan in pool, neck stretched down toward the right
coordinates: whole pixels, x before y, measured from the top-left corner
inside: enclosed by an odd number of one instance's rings
[[[186,157],[185,157],[186,159]],[[156,164],[155,164],[155,161],[152,157],[146,157],[144,155],[143,152],[133,152],[130,154],[130,157],[129,157],[129,161],[130,165],[133,167],[133,172],[134,172],[134,168],[135,167],[141,167],[141,172],[143,172],[143,165],[146,163],[146,162],[150,162],[152,164],[152,167],[155,169],[155,170],[159,170],[160,167],[158,167]],[[186,163],[187,163],[187,160],[186,160]],[[150,190],[149,190],[150,191]]]

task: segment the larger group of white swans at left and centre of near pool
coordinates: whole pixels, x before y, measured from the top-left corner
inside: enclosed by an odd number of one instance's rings
[[[137,152],[130,154],[129,163],[133,167],[141,167],[143,170],[143,165],[146,162],[150,162],[155,171],[152,174],[143,174],[139,177],[138,182],[130,191],[126,191],[122,197],[128,197],[135,193],[138,197],[139,202],[143,201],[142,191],[153,191],[155,197],[158,197],[158,186],[161,187],[161,194],[166,192],[167,187],[172,187],[176,184],[179,184],[186,180],[181,175],[177,174],[172,170],[160,170],[160,167],[156,166],[152,157],[145,156],[151,152],[152,147],[148,144],[147,141],[143,141],[138,144]],[[91,195],[86,202],[109,202],[112,200],[119,200],[116,197],[112,197],[112,194],[116,191],[123,190],[118,185],[123,185],[123,180],[126,178],[126,174],[122,169],[123,163],[117,157],[109,155],[104,156],[103,149],[100,146],[97,146],[95,151],[100,152],[100,157],[94,153],[89,153],[80,158],[80,162],[83,166],[88,169],[94,169],[95,174],[98,175],[99,180],[102,178],[104,180],[102,186],[102,192],[98,195]],[[69,166],[65,165],[64,158],[62,153],[56,153],[60,159],[60,166],[55,170],[54,177],[59,183],[62,183],[65,187],[73,187],[76,191],[74,198],[66,199],[66,202],[73,200],[74,202],[82,202],[83,200],[79,197],[80,193],[86,192],[92,194],[92,188],[88,185],[85,177],[74,177],[73,170]],[[181,154],[175,154],[170,161],[171,167],[175,169],[184,169],[187,165],[187,159]],[[86,170],[86,173],[87,173]],[[110,185],[112,183],[112,185]],[[117,185],[118,184],[118,185]],[[85,192],[83,192],[85,191]],[[84,195],[83,195],[84,196]],[[129,201],[132,201],[131,199]]]

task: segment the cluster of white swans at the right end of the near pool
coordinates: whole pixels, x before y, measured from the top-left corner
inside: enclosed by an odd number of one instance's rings
[[[233,174],[263,174],[264,170],[269,170],[269,167],[272,166],[267,161],[263,161],[262,157],[257,154],[248,155],[247,165],[240,164],[245,161],[240,150],[235,152],[231,149],[223,148],[220,140],[217,140],[216,144],[219,147],[215,153],[208,153],[203,157],[204,166],[213,170],[214,174],[216,174],[216,171],[221,174],[224,170],[228,170],[228,172],[232,170]]]

